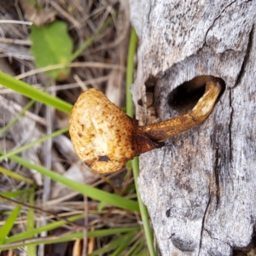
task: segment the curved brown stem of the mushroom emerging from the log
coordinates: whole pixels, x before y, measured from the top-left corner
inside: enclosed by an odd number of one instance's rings
[[[218,82],[208,81],[204,95],[189,113],[167,119],[158,124],[139,126],[139,133],[149,137],[153,142],[159,142],[201,124],[212,112],[220,91],[221,86]]]

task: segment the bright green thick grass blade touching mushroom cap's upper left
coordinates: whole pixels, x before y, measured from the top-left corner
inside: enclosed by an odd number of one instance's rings
[[[73,108],[71,104],[62,101],[60,98],[50,96],[46,92],[37,90],[31,85],[17,80],[3,72],[0,72],[0,84],[35,101],[42,102],[66,113],[70,113]]]

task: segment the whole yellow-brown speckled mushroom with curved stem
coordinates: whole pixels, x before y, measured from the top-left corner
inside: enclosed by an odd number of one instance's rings
[[[166,138],[201,124],[212,112],[220,91],[220,84],[210,80],[189,113],[139,126],[100,90],[86,90],[74,104],[69,120],[75,152],[96,172],[116,172],[135,156],[165,145]]]

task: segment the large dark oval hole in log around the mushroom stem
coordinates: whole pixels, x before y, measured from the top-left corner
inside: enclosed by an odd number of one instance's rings
[[[167,97],[169,106],[180,114],[195,107],[196,102],[203,96],[209,79],[216,79],[224,90],[224,80],[212,76],[197,76],[190,81],[180,84]]]

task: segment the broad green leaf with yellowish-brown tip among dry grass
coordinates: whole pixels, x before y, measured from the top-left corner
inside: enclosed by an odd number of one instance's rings
[[[73,41],[67,33],[67,24],[55,21],[48,26],[32,25],[31,52],[34,55],[37,67],[50,65],[68,65],[72,59]],[[51,78],[57,80],[67,79],[69,67],[46,72]]]

